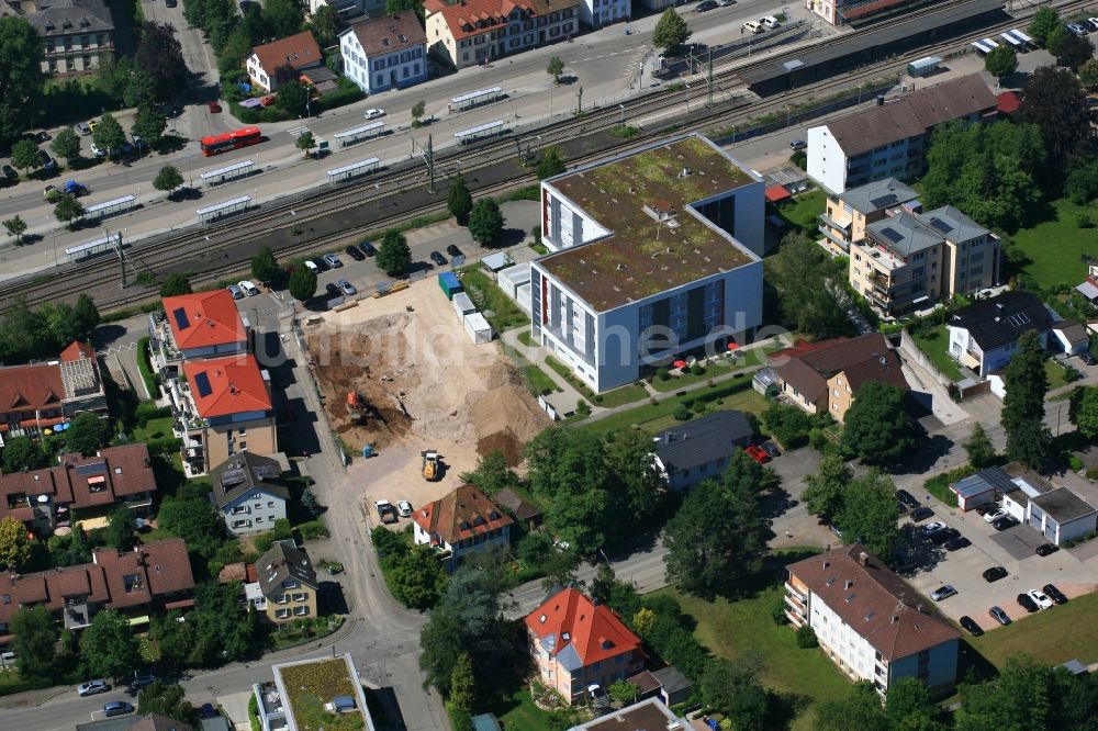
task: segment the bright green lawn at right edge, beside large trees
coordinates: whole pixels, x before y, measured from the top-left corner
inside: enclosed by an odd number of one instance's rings
[[[1022,272],[1041,289],[1058,283],[1075,286],[1087,275],[1082,255],[1098,255],[1098,228],[1079,228],[1078,216],[1098,221],[1094,206],[1053,201],[1054,217],[1011,236],[1013,254],[1024,255]],[[1013,258],[1013,257],[1011,257]]]

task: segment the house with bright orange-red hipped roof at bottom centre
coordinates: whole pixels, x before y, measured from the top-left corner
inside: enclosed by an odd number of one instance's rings
[[[645,666],[640,638],[609,607],[567,588],[526,616],[538,679],[570,704],[587,687],[608,688]]]

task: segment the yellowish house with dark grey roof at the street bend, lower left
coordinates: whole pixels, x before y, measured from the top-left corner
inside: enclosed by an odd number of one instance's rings
[[[279,629],[298,619],[315,619],[320,583],[303,549],[278,541],[255,563],[258,581],[244,587],[248,603]]]

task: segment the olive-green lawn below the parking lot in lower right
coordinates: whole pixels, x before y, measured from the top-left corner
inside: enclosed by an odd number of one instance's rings
[[[1013,610],[1011,609],[1013,607]],[[1002,667],[1007,657],[1024,652],[1050,665],[1078,659],[1084,663],[1098,657],[1098,594],[1087,594],[1047,611],[1026,616],[1018,614],[1018,606],[1006,607],[1018,619],[1006,627],[997,627],[983,637],[965,638],[979,654],[996,667]],[[977,618],[987,626],[989,617]]]

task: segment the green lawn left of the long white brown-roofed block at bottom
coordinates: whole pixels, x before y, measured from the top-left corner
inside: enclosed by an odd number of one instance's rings
[[[766,666],[762,678],[764,685],[808,699],[806,712],[793,722],[794,729],[807,731],[811,728],[813,704],[845,695],[850,682],[821,650],[802,650],[792,628],[774,623],[771,607],[782,592],[780,586],[773,586],[755,598],[739,601],[706,601],[680,594],[674,587],[660,589],[657,594],[670,594],[679,599],[683,611],[697,620],[694,634],[714,654],[736,657],[748,650],[759,652]]]

